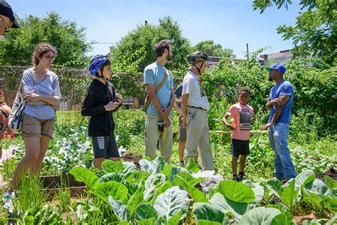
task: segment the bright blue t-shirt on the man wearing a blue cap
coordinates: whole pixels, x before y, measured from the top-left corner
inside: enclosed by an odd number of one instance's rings
[[[279,95],[290,95],[287,103],[284,104],[281,115],[277,118],[276,122],[284,122],[290,124],[290,113],[291,113],[291,105],[294,98],[294,88],[289,81],[283,80],[281,83],[274,85],[272,90],[270,90],[269,100],[274,98],[279,98]],[[272,121],[272,117],[274,116],[275,106],[272,105],[270,108],[270,115],[268,122]],[[275,123],[276,123],[275,122]]]

